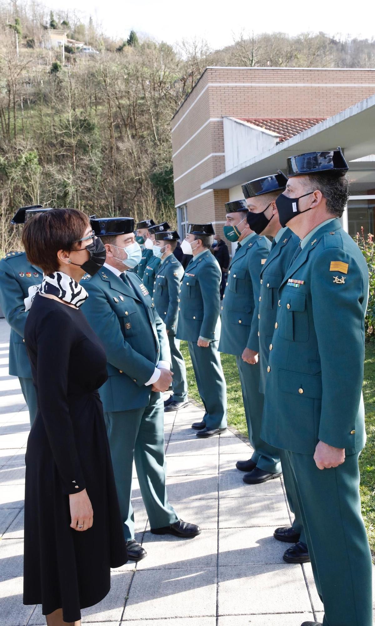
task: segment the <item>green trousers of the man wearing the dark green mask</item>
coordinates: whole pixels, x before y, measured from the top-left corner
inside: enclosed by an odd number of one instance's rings
[[[264,395],[259,391],[259,362],[251,365],[246,363],[241,356],[236,356],[236,363],[241,381],[249,441],[254,448],[251,460],[256,463],[257,468],[277,474],[281,472],[279,451],[261,439]]]

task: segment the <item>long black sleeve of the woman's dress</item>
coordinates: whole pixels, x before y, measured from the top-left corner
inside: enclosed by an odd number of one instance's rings
[[[36,332],[39,406],[65,494],[85,488],[67,396],[75,333],[70,318],[59,311],[46,316]]]

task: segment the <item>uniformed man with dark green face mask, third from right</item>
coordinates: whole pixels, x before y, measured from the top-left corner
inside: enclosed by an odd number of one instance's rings
[[[271,244],[249,228],[245,200],[227,202],[225,206],[224,235],[238,245],[222,298],[219,351],[236,356],[247,430],[254,448],[251,459],[237,461],[236,467],[246,471],[244,482],[256,485],[281,475],[278,451],[260,438],[264,398],[259,392],[259,274]]]

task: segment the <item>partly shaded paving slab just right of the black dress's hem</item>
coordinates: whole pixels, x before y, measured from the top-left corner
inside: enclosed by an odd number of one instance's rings
[[[138,570],[124,620],[216,615],[216,567]],[[152,622],[150,622],[150,625]]]

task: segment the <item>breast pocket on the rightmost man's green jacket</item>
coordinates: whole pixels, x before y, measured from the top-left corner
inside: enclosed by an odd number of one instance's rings
[[[309,316],[306,294],[284,290],[281,297],[279,335],[289,341],[306,342],[309,339]]]

